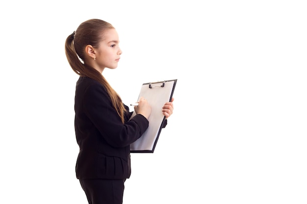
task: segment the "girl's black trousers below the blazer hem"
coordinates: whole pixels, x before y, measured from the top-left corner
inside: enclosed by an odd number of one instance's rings
[[[124,180],[80,179],[89,204],[123,204]]]

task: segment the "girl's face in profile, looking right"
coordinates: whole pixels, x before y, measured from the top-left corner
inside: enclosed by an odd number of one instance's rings
[[[96,48],[96,64],[101,69],[117,68],[117,64],[122,54],[119,47],[119,37],[115,29],[108,29],[104,32],[103,40]]]

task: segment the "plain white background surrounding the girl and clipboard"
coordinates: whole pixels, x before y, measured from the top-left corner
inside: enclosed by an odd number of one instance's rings
[[[76,176],[77,74],[64,42],[115,26],[126,104],[178,79],[153,154],[133,154],[124,204],[307,203],[304,0],[5,1],[0,6],[0,203],[86,204]]]

